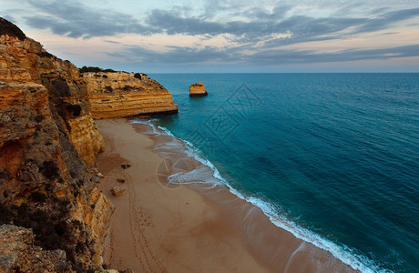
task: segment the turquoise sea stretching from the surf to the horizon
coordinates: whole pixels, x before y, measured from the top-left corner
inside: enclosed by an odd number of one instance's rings
[[[152,123],[240,196],[363,271],[419,272],[419,74],[150,76],[179,104]]]

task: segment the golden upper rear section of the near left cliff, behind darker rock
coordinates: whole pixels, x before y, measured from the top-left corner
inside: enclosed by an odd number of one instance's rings
[[[80,82],[77,67],[48,54],[29,38],[1,35],[0,45],[0,81],[46,86],[66,134],[91,167],[104,140],[89,113],[87,86]]]

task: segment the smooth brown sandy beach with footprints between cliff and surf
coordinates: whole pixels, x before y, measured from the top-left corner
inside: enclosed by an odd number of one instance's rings
[[[156,144],[169,145],[172,136],[149,136],[146,125],[129,124],[127,119],[98,120],[97,126],[107,142],[107,149],[97,157],[97,167],[105,175],[99,188],[117,207],[104,248],[111,268],[355,271],[330,252],[275,226],[260,207],[233,195],[226,186],[165,185],[157,176],[162,162],[176,167],[181,158],[193,170],[202,167],[175,148],[161,155],[152,150]],[[132,167],[122,169],[120,164],[125,162]],[[118,177],[127,182],[119,184]],[[127,194],[113,197],[110,188],[115,186],[126,187]]]

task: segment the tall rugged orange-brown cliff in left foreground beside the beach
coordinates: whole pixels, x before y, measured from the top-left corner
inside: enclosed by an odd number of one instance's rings
[[[113,207],[87,167],[103,147],[77,67],[0,18],[0,224],[32,228],[73,269],[101,268]]]

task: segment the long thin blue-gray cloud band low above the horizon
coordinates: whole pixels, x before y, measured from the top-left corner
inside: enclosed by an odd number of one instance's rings
[[[118,53],[108,54],[131,61],[133,56],[141,56],[144,64],[246,64],[246,65],[289,65],[348,62],[359,60],[392,59],[396,57],[419,56],[419,45],[404,45],[384,49],[353,49],[334,53],[314,50],[276,49],[242,54],[241,46],[221,50],[216,47],[190,48],[173,46],[169,52],[160,53],[140,46],[128,46]]]

